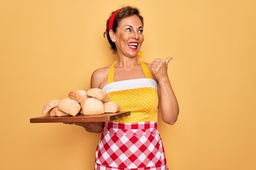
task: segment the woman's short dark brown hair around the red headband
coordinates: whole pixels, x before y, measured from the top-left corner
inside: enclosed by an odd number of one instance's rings
[[[114,11],[110,14],[110,17],[112,16],[112,14],[114,13]],[[132,7],[132,6],[124,6],[123,8],[121,8],[120,11],[117,12],[116,16],[114,17],[114,22],[113,22],[113,26],[112,26],[112,30],[114,31],[114,33],[117,32],[117,26],[119,25],[120,21],[122,21],[122,19],[129,17],[129,16],[133,16],[136,15],[139,17],[139,19],[142,21],[142,26],[144,25],[144,21],[143,21],[143,17],[140,15],[139,9]],[[110,30],[109,30],[109,23],[110,23],[110,17],[107,19],[107,25],[106,25],[106,30],[104,33],[104,37],[105,35],[107,35],[107,40],[110,43],[110,48],[113,52],[117,52],[117,47],[115,46],[114,42],[112,42],[112,40],[110,39]]]

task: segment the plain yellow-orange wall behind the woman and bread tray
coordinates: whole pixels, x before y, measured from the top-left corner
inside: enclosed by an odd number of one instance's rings
[[[142,59],[174,57],[181,111],[159,123],[170,169],[256,169],[254,0],[1,0],[0,169],[93,169],[99,134],[29,119],[114,61],[103,32],[122,5],[144,16]]]

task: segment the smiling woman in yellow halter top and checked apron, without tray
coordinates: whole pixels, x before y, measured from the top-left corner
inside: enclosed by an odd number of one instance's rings
[[[138,59],[144,41],[143,18],[137,8],[112,12],[105,35],[117,60],[95,70],[91,88],[103,89],[110,101],[131,115],[109,123],[83,123],[88,132],[102,132],[95,169],[168,169],[157,130],[158,115],[173,125],[178,102],[167,74],[166,60],[146,64]]]

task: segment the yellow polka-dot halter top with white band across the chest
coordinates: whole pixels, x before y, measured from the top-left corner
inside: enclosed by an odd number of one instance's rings
[[[103,90],[121,106],[121,111],[131,111],[131,115],[114,120],[117,123],[157,122],[159,98],[157,84],[149,68],[139,61],[146,78],[114,81],[114,62]]]

